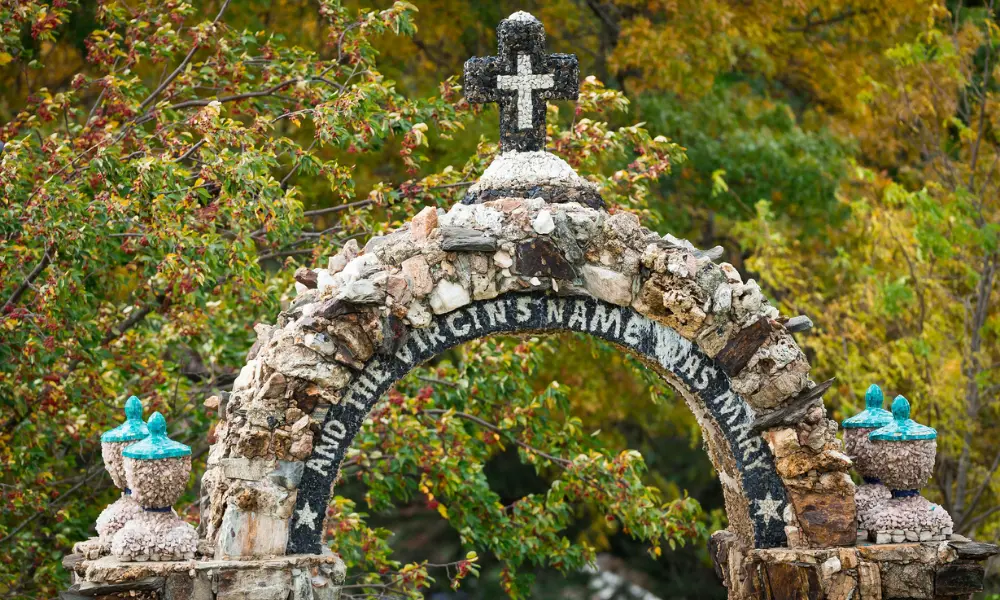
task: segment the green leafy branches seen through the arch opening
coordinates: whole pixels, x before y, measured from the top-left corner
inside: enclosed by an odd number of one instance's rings
[[[697,502],[664,502],[659,490],[643,482],[638,452],[613,451],[587,435],[581,419],[572,416],[572,390],[557,382],[533,389],[551,352],[535,340],[474,342],[463,347],[460,362],[410,375],[371,414],[341,474],[364,483],[373,511],[418,499],[437,511],[464,546],[502,561],[501,580],[512,597],[527,597],[531,568],[572,573],[593,562],[593,546],[562,533],[581,509],[602,515],[612,531],[648,540],[653,556],[663,545],[674,548],[705,535]],[[546,492],[501,501],[485,465],[508,447],[545,479]],[[360,540],[384,537],[358,531],[364,525],[350,512],[350,501],[338,498],[334,504],[336,514],[347,518],[333,519],[333,546],[353,559],[355,585],[369,583],[371,593],[384,589],[379,573],[398,567],[384,541],[368,545],[380,552],[356,550]]]

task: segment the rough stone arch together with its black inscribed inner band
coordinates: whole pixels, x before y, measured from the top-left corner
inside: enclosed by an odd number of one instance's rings
[[[678,389],[743,544],[781,546],[803,519],[827,526],[815,502],[786,510],[795,477],[759,432],[761,419],[794,424],[781,416],[790,403],[821,406],[783,320],[731,265],[633,215],[538,199],[429,208],[296,279],[297,297],[276,325],[258,326],[220,406],[203,479],[220,557],[319,552],[340,460],[383,392],[462,342],[554,330],[607,339]],[[836,426],[813,430],[822,447]]]

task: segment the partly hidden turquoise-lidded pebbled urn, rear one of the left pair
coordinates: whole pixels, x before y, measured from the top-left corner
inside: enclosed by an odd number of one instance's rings
[[[107,554],[111,539],[126,523],[142,512],[142,507],[132,497],[125,483],[125,464],[122,451],[149,436],[142,420],[142,402],[132,396],[125,401],[125,422],[101,434],[101,458],[111,481],[122,490],[121,497],[109,504],[97,517],[97,543],[83,542],[80,551],[89,557]],[[83,547],[86,546],[86,547]]]

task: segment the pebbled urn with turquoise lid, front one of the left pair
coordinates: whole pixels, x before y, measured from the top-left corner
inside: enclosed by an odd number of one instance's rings
[[[153,413],[149,437],[126,448],[125,480],[142,512],[115,534],[111,553],[124,561],[192,559],[198,533],[173,509],[191,474],[191,448],[167,437],[167,423]]]

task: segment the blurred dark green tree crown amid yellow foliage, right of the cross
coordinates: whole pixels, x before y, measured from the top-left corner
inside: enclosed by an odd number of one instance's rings
[[[843,218],[835,192],[846,145],[829,131],[803,128],[791,107],[750,84],[719,82],[693,101],[647,95],[640,111],[687,151],[684,168],[664,180],[665,194],[689,219],[674,217],[675,227],[708,212],[747,219],[761,199],[810,226]]]

